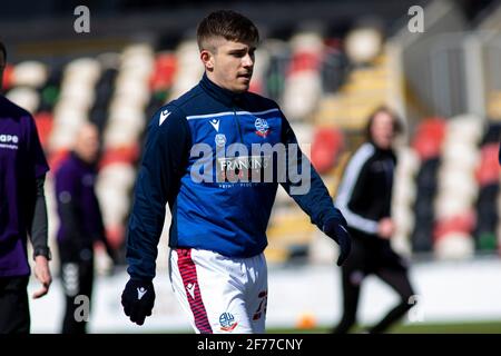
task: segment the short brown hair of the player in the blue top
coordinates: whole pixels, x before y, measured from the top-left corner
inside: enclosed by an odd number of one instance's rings
[[[223,37],[228,41],[258,42],[259,31],[245,16],[232,10],[218,10],[209,13],[198,24],[198,48],[207,49],[207,40],[214,37]]]

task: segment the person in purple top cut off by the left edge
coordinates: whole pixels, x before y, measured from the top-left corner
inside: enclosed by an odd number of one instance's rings
[[[0,42],[0,85],[6,62]],[[52,281],[43,192],[48,170],[33,118],[0,95],[0,334],[30,332],[28,237],[42,284],[33,298],[45,296]]]

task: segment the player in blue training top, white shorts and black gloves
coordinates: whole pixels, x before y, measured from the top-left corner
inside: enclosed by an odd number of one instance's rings
[[[234,11],[216,11],[199,23],[197,40],[205,75],[190,91],[160,108],[149,125],[129,220],[130,279],[121,304],[138,325],[151,315],[157,245],[168,202],[170,281],[194,330],[264,333],[268,287],[263,251],[277,179],[243,182],[239,178],[250,169],[242,167],[264,167],[265,158],[242,152],[220,158],[217,152],[230,144],[291,148],[297,140],[277,103],[248,92],[258,43],[255,24]],[[197,181],[190,174],[199,171],[200,157],[190,151],[203,147],[209,151],[204,157],[210,168],[204,166],[207,180]],[[295,194],[291,171],[281,184],[340,244],[341,265],[350,254],[345,220],[307,158],[301,150],[296,154],[284,162],[299,161],[310,189]]]

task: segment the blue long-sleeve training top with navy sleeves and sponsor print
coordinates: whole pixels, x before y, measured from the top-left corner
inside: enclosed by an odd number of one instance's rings
[[[281,144],[285,157],[277,154]],[[129,275],[155,277],[166,204],[173,216],[171,248],[229,257],[265,249],[278,184],[318,228],[333,218],[345,224],[318,174],[301,150],[288,152],[289,144],[297,140],[276,102],[252,92],[234,93],[206,75],[161,107],[148,126],[135,188],[126,254]],[[255,154],[256,147],[263,151]]]

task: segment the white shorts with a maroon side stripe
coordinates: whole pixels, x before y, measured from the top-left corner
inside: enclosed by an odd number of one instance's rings
[[[178,248],[169,256],[170,283],[197,334],[263,334],[268,294],[264,254],[229,258]]]

